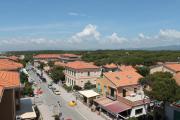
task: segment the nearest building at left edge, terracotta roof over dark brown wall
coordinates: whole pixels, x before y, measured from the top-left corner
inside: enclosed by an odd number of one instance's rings
[[[18,72],[0,71],[0,113],[2,120],[15,120],[20,108],[20,78]]]

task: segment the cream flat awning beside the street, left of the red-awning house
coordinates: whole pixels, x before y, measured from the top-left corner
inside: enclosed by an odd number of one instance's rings
[[[83,90],[79,91],[79,93],[87,98],[99,96],[99,94],[94,92],[93,90]]]

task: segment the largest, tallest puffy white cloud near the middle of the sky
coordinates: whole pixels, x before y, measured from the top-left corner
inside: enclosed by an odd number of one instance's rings
[[[89,24],[87,25],[81,32],[76,33],[69,40],[71,43],[81,43],[85,40],[99,40],[100,33],[97,31],[97,27],[95,25]]]

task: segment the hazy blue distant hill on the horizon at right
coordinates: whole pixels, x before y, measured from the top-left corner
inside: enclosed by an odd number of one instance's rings
[[[170,46],[157,46],[151,48],[142,48],[143,50],[180,50],[180,45],[170,45]]]

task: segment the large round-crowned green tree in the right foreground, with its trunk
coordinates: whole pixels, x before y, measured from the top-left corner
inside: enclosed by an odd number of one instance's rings
[[[172,74],[168,72],[157,72],[141,79],[140,82],[151,88],[150,90],[145,90],[145,94],[153,100],[162,101],[161,108],[154,110],[155,119],[165,119],[165,104],[180,100],[180,87],[172,78]]]

